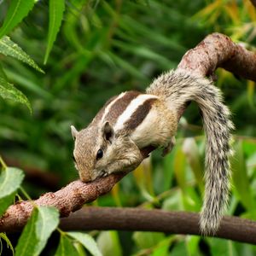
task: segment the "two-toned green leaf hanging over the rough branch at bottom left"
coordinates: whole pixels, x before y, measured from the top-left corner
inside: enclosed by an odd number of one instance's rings
[[[58,224],[59,212],[54,207],[34,208],[15,247],[15,255],[39,255]]]

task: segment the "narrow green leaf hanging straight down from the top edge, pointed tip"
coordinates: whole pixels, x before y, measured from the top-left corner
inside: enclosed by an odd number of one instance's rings
[[[48,31],[47,49],[44,56],[44,64],[48,60],[49,52],[52,49],[57,33],[59,32],[64,10],[65,10],[64,0],[58,0],[58,1],[49,0],[49,31]]]

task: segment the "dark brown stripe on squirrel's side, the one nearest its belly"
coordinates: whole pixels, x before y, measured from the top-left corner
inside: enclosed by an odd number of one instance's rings
[[[140,125],[143,120],[148,115],[150,109],[152,108],[153,103],[157,99],[148,99],[147,101],[143,102],[142,105],[138,106],[136,111],[131,114],[131,119],[127,120],[124,124],[125,129],[127,130],[135,130],[138,125]]]

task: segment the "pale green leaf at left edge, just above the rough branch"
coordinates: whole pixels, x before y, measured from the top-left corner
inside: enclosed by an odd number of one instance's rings
[[[14,200],[16,190],[20,188],[23,178],[24,173],[14,167],[7,167],[0,174],[0,215]]]

